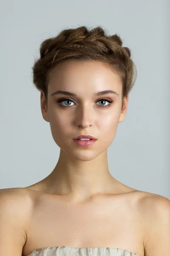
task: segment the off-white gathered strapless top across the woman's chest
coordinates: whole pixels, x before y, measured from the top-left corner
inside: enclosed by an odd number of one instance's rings
[[[110,247],[44,247],[27,256],[139,256],[128,250]]]

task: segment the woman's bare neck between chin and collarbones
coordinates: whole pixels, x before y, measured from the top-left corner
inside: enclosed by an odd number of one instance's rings
[[[109,194],[118,183],[108,170],[107,151],[92,160],[83,158],[82,161],[60,150],[57,165],[45,178],[48,193],[65,195],[73,201]]]

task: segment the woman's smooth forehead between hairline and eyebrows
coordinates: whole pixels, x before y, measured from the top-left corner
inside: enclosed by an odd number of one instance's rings
[[[81,93],[114,89],[122,90],[120,77],[102,61],[66,60],[51,73],[48,91],[70,90]]]

